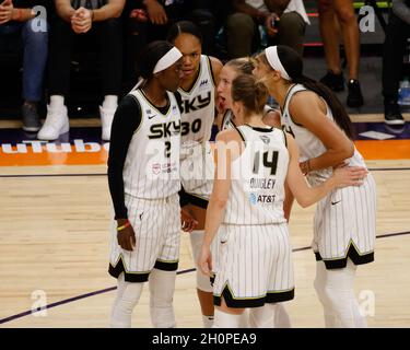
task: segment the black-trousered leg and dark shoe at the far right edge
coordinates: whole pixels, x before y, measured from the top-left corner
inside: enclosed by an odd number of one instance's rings
[[[407,39],[410,37],[410,0],[393,0],[383,56],[383,95],[385,122],[403,125],[397,104],[399,81]]]

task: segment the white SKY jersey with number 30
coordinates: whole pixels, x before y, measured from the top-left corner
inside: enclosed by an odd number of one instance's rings
[[[209,141],[212,132],[215,110],[215,83],[212,77],[211,61],[202,55],[199,74],[190,91],[179,88],[181,97],[181,144],[192,141]]]

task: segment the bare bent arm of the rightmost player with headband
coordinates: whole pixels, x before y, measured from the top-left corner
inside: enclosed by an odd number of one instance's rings
[[[311,91],[295,94],[289,106],[293,121],[313,132],[327,149],[325,153],[302,164],[308,171],[338,166],[354,152],[353,142],[326,116],[325,108],[324,102]]]

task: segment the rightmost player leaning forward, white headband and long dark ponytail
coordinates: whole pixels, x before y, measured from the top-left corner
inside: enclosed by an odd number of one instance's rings
[[[311,185],[325,182],[340,163],[365,167],[352,142],[341,103],[323,84],[303,75],[301,57],[285,46],[268,47],[258,57],[258,77],[282,108],[282,125],[301,150],[301,170]],[[329,194],[317,206],[313,250],[315,289],[326,327],[366,327],[354,295],[356,266],[374,260],[376,185],[367,175],[361,187]]]

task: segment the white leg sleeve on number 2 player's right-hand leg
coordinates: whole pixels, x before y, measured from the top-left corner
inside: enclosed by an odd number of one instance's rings
[[[152,325],[156,328],[176,326],[173,298],[176,271],[153,269],[150,273],[150,312]]]

